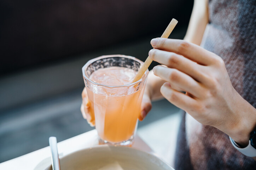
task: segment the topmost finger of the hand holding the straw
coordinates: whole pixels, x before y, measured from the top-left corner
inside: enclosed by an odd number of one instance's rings
[[[153,48],[175,52],[202,65],[211,65],[218,56],[202,47],[180,39],[155,38],[151,40]]]

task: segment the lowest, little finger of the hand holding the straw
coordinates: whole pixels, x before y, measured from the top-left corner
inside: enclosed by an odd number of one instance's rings
[[[195,106],[197,106],[196,100],[184,93],[172,89],[170,83],[164,83],[160,92],[165,99],[186,112],[190,112]]]

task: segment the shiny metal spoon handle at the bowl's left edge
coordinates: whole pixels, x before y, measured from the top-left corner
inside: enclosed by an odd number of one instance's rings
[[[59,163],[59,154],[57,148],[57,138],[50,137],[49,144],[52,152],[52,169],[53,170],[60,170],[60,163]]]

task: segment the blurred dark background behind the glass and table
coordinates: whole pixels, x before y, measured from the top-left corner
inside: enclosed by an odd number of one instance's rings
[[[172,18],[179,23],[169,38],[185,36],[192,6],[190,0],[1,0],[0,163],[48,146],[50,136],[62,141],[92,130],[80,113],[82,66],[108,54],[144,61],[150,40]],[[178,108],[153,103],[139,127],[170,109]]]

